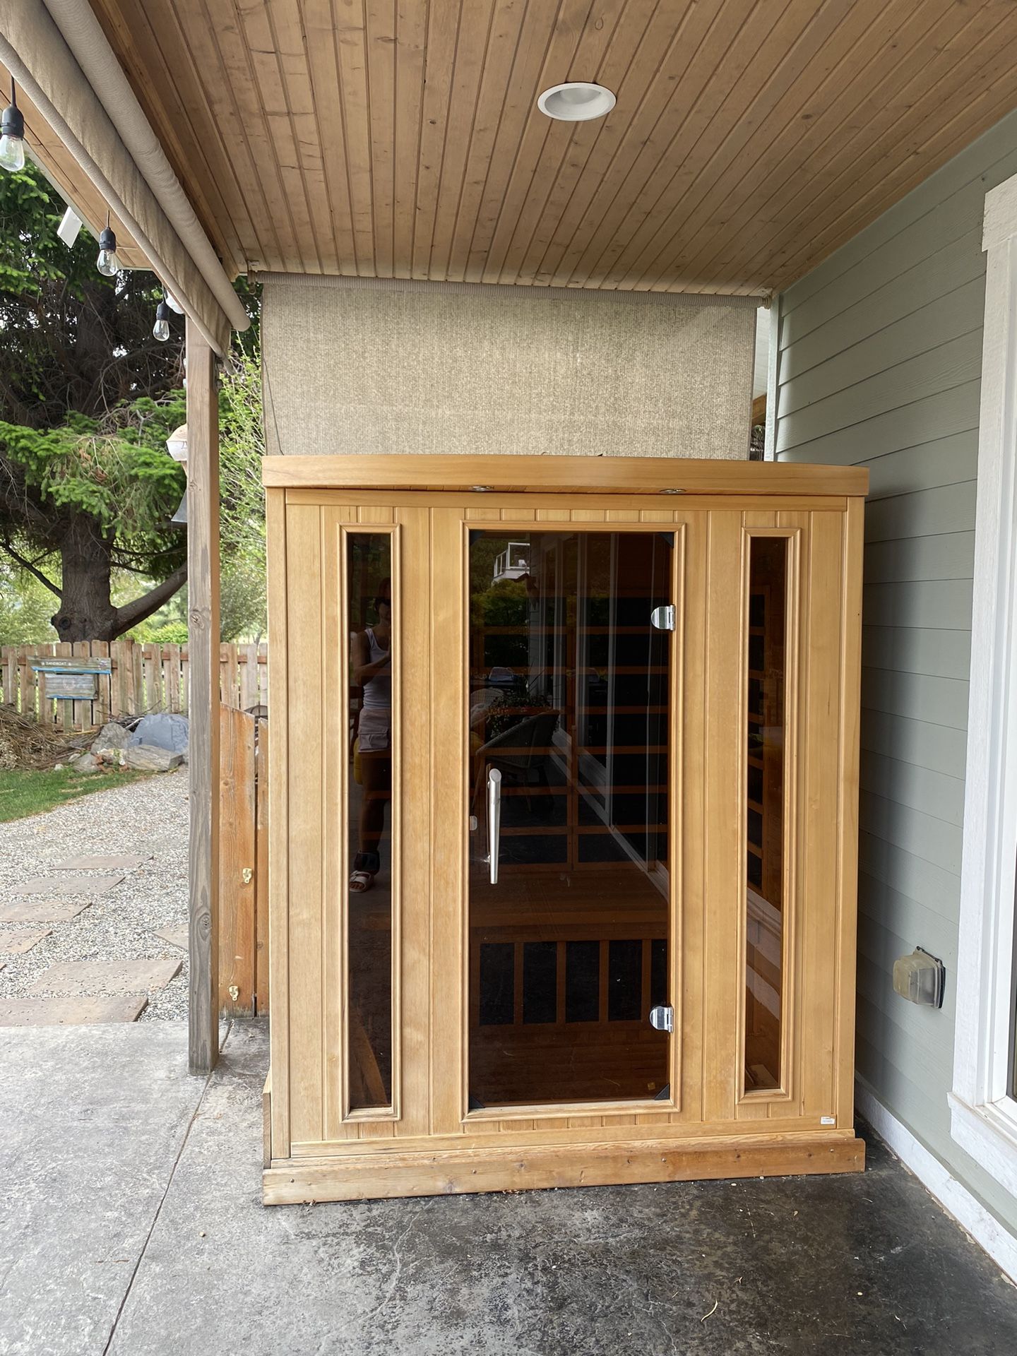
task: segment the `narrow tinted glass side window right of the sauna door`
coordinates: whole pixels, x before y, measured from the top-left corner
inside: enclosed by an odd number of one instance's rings
[[[746,1092],[781,1086],[784,994],[784,747],[788,541],[749,555],[746,785]]]

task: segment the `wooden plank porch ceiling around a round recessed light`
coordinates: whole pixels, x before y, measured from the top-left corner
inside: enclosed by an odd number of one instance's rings
[[[1017,106],[1014,0],[91,3],[237,271],[767,293]]]

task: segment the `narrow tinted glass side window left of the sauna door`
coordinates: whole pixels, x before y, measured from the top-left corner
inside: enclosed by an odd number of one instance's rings
[[[392,1105],[392,538],[346,537],[350,1109]]]

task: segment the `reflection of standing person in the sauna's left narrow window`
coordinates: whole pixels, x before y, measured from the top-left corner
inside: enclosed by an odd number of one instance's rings
[[[374,599],[378,621],[353,637],[353,681],[363,689],[357,750],[361,769],[359,852],[350,890],[370,890],[381,869],[385,801],[392,799],[392,582],[382,579]]]

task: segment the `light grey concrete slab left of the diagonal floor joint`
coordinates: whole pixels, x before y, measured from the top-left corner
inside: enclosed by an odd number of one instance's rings
[[[0,1031],[0,1351],[106,1347],[203,1082],[187,1028]]]

